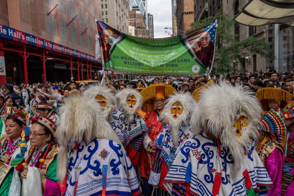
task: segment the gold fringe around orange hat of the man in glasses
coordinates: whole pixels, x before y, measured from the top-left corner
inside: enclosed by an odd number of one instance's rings
[[[174,87],[172,87],[171,85],[165,84],[165,83],[159,83],[159,84],[151,84],[150,86],[144,88],[143,90],[141,90],[141,94],[143,97],[143,107],[142,107],[142,111],[145,112],[146,114],[149,114],[149,112],[154,110],[153,104],[151,102],[151,100],[155,97],[156,95],[156,90],[157,87],[161,85],[164,85],[164,92],[165,92],[165,98],[168,98],[171,94],[175,93],[176,90]]]

